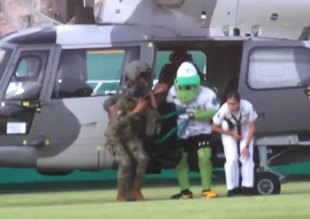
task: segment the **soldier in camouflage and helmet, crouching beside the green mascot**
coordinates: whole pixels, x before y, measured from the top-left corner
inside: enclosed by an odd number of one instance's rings
[[[133,61],[126,68],[126,81],[118,92],[104,103],[109,113],[109,125],[105,131],[105,147],[119,163],[117,201],[125,201],[125,184],[131,168],[130,156],[137,161],[131,198],[144,200],[141,193],[148,155],[140,139],[143,127],[142,117],[156,120],[156,100],[148,93],[147,75],[150,67],[147,63]],[[146,98],[147,97],[147,98]],[[152,109],[151,113],[147,113]],[[152,117],[152,118],[151,118]],[[154,121],[153,121],[154,122]]]

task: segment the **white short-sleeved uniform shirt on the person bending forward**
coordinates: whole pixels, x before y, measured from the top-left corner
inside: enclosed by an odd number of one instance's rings
[[[257,118],[257,113],[253,109],[253,105],[247,100],[240,101],[240,109],[238,112],[233,113],[237,120],[240,119],[241,115],[241,132],[247,133],[250,122],[254,122]],[[230,113],[228,104],[224,103],[219,112],[213,117],[213,122],[217,125],[221,125],[224,119],[230,120],[234,125],[237,124],[236,120],[233,118],[233,115]]]

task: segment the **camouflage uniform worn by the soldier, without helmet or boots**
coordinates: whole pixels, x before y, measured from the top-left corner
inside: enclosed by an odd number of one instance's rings
[[[141,182],[145,175],[148,156],[138,137],[142,118],[129,114],[135,107],[135,100],[122,96],[115,104],[118,114],[110,115],[109,125],[105,131],[105,147],[119,163],[118,184],[125,186],[131,166],[128,153],[137,161],[135,180]]]

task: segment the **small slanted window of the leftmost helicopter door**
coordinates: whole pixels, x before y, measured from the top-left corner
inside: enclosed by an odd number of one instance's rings
[[[48,51],[22,52],[6,90],[6,100],[36,100],[41,92],[42,72]]]

